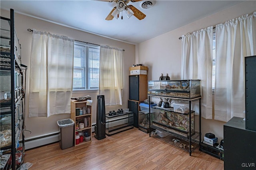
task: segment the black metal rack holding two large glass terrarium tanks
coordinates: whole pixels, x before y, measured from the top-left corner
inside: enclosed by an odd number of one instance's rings
[[[172,100],[176,102],[185,102],[186,104],[188,104],[188,109],[186,111],[183,110],[181,112],[176,112],[176,110],[173,107],[153,107],[155,109],[162,110],[163,112],[160,112],[161,114],[158,113],[160,114],[161,119],[159,118],[159,115],[155,115],[153,117],[152,122],[149,121],[149,136],[158,137],[159,139],[165,141],[166,143],[169,143],[170,145],[173,145],[175,147],[178,147],[189,152],[189,155],[191,156],[191,153],[198,147],[200,147],[201,143],[200,80],[148,81],[148,87],[149,103],[152,100],[152,98],[156,98],[159,100],[162,98],[167,102],[168,100]],[[199,102],[199,131],[195,131],[195,111],[192,111],[191,109],[191,105],[193,102]],[[149,115],[151,120],[150,109]],[[164,115],[169,115],[169,118],[164,117]],[[174,121],[176,121],[176,119],[174,119],[175,116],[183,117],[184,119],[186,119],[188,125],[186,125],[185,130],[184,128],[179,129],[181,122],[178,123],[178,127],[171,124],[174,123]],[[172,121],[170,120],[171,118]],[[162,123],[162,120],[164,120],[165,123]],[[170,121],[170,123],[168,123],[168,121]],[[193,127],[191,125],[192,122]],[[156,129],[156,131],[151,131],[151,129]],[[158,134],[159,131],[160,134]]]

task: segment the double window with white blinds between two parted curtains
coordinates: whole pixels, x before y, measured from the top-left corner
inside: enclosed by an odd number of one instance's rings
[[[73,90],[98,90],[100,46],[75,41]]]

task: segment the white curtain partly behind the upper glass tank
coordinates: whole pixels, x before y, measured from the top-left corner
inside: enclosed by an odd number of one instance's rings
[[[181,79],[201,80],[202,117],[212,119],[212,27],[182,35]]]

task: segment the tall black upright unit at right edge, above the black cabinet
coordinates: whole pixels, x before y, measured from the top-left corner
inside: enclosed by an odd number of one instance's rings
[[[256,131],[256,55],[244,58],[245,128]]]

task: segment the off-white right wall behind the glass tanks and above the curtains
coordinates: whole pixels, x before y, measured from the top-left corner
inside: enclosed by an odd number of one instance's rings
[[[160,74],[169,74],[171,80],[180,79],[181,70],[181,40],[179,37],[186,33],[224,23],[227,20],[256,11],[256,1],[247,1],[201,20],[162,34],[158,37],[136,45],[135,63],[149,66],[148,80],[159,80]],[[173,16],[176,17],[176,16]],[[255,35],[256,36],[256,35]],[[198,121],[198,116],[196,117]],[[214,133],[219,142],[223,139],[223,125],[225,122],[202,119],[202,135]]]

